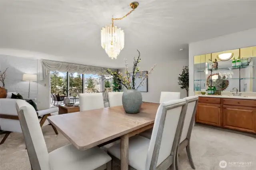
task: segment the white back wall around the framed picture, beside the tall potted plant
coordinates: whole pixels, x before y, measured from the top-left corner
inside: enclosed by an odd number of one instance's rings
[[[160,93],[162,91],[169,92],[181,92],[180,97],[186,97],[186,90],[180,89],[178,85],[178,76],[182,72],[182,67],[188,65],[188,50],[179,51],[175,53],[163,54],[165,57],[162,58],[162,54],[147,53],[146,50],[140,51],[141,63],[140,70],[150,70],[150,68],[157,64],[152,74],[148,77],[148,92],[142,92],[143,102],[155,102],[159,103]],[[161,59],[158,56],[161,55]],[[133,56],[137,56],[134,53]],[[128,61],[129,72],[132,70],[133,60]],[[124,69],[119,70],[125,72]]]

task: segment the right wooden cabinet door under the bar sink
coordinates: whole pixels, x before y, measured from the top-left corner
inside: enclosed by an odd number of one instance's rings
[[[241,106],[223,106],[223,127],[256,133],[256,109]]]

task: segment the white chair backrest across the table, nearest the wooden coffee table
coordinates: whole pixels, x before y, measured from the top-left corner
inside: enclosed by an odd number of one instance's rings
[[[80,111],[104,108],[102,93],[79,94]]]

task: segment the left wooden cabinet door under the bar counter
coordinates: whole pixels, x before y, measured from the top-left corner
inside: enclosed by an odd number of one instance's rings
[[[220,127],[220,104],[198,103],[196,122]]]

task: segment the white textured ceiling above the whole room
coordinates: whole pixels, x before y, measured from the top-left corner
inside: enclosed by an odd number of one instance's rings
[[[16,49],[38,58],[120,68],[136,49],[168,57],[190,42],[256,27],[255,0],[138,0],[130,16],[114,22],[124,29],[125,47],[113,61],[100,46],[100,29],[112,15],[126,14],[130,2],[0,0],[0,54]]]

